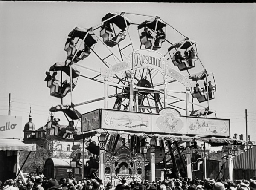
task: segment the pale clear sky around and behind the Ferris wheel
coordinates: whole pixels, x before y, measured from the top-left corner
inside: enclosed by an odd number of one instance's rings
[[[50,107],[61,104],[61,101],[50,96],[44,81],[45,72],[54,63],[65,61],[67,52],[64,45],[69,32],[76,26],[90,28],[99,25],[108,12],[125,12],[125,16],[137,24],[150,18],[143,15],[159,16],[182,34],[168,27],[166,38],[172,43],[183,39],[183,35],[195,40],[204,68],[215,76],[217,91],[215,99],[209,101],[210,109],[216,111],[217,118],[230,119],[231,137],[237,133],[238,136],[244,134],[244,138],[247,109],[248,135],[256,141],[255,3],[0,1],[0,115],[8,115],[11,93],[11,115],[22,116],[23,126],[28,121],[30,106],[36,129],[46,124]],[[131,31],[134,46],[139,48],[136,26],[131,26]],[[163,46],[164,49],[170,45],[165,42]],[[108,55],[108,50],[104,48],[98,41],[95,51],[101,56]],[[95,59],[91,56],[79,64],[100,71],[103,65]],[[109,60],[113,64],[111,61],[113,59]],[[89,77],[98,74],[76,68]],[[200,62],[197,62],[189,72],[193,74],[202,70]],[[168,88],[179,89],[175,85]],[[114,92],[113,89],[111,92]],[[104,85],[79,77],[73,91],[74,104],[103,96]],[[70,94],[63,103],[70,104]],[[109,101],[108,105],[111,109],[113,101]],[[202,105],[207,106],[206,103]],[[184,104],[180,106],[184,107]],[[104,102],[101,101],[76,109],[83,114],[103,107]],[[182,112],[182,115],[185,114]],[[67,122],[61,113],[56,112],[56,115],[61,118],[62,124]],[[78,125],[81,124],[78,122]]]

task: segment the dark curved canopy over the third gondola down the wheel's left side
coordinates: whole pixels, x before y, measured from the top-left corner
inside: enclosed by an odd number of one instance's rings
[[[80,71],[77,70],[74,66],[72,66],[72,78],[76,78],[80,75]],[[68,76],[70,76],[70,66],[68,66],[65,62],[57,62],[50,67],[50,71],[63,71]]]

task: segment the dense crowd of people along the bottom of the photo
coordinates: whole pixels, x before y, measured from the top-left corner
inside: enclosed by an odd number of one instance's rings
[[[250,180],[217,180],[205,178],[200,180],[195,177],[182,178],[180,174],[178,178],[157,180],[150,182],[132,181],[127,183],[123,178],[121,184],[113,187],[111,182],[106,186],[103,185],[101,179],[84,179],[76,180],[76,178],[56,179],[45,178],[42,176],[30,176],[26,180],[6,180],[3,184],[0,181],[0,190],[256,190],[256,177]]]

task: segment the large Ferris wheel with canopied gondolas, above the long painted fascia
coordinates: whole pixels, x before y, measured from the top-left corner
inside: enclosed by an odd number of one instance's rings
[[[65,61],[55,63],[46,72],[45,81],[50,95],[61,102],[52,107],[51,112],[61,111],[68,120],[81,121],[80,107],[101,101],[107,109],[133,112],[159,113],[167,106],[186,111],[187,115],[189,109],[190,116],[206,117],[215,113],[209,109],[209,101],[214,99],[216,91],[214,75],[207,72],[201,62],[195,41],[158,16],[109,12],[98,23],[88,28],[71,29],[64,43],[63,51],[67,52]],[[147,54],[140,57],[136,54],[138,51]],[[152,54],[159,54],[164,59],[155,59]],[[124,66],[127,61],[132,62],[134,55],[137,56],[137,64],[147,67],[138,67],[134,72],[116,68],[117,65]],[[161,67],[166,65],[162,62],[192,81],[189,97],[186,97],[186,91],[177,78],[165,78],[155,69],[164,70]],[[120,72],[108,75],[108,78],[102,74],[113,72],[113,69]],[[105,84],[108,94],[105,92],[105,97],[76,102],[73,98],[76,91],[73,90],[80,88],[80,85],[82,87],[78,78],[85,78],[93,85]],[[166,95],[163,91],[165,85],[169,89]],[[68,97],[70,104],[63,105],[63,98]],[[163,101],[165,98],[167,103]],[[190,99],[189,105],[186,98]],[[72,124],[60,132],[55,121],[49,123],[49,129],[56,139],[65,139],[73,133]]]

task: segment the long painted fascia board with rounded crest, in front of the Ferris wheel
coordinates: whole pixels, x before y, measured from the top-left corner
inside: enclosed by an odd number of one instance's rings
[[[82,115],[82,132],[94,129],[128,132],[230,136],[230,120],[180,116],[172,108],[159,114],[98,109]]]

